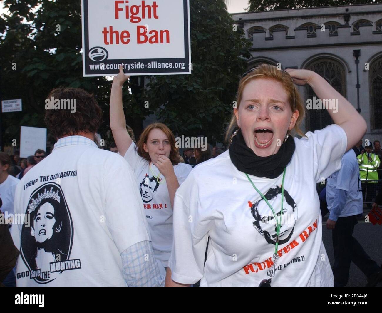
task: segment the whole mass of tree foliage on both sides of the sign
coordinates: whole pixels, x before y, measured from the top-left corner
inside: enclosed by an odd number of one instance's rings
[[[111,81],[83,77],[79,0],[5,0],[0,18],[1,99],[23,100],[23,111],[2,114],[4,144],[19,141],[20,126],[45,127],[45,99],[58,86],[94,93],[104,111],[99,132],[110,137]],[[249,56],[242,31],[222,0],[191,0],[192,75],[131,77],[124,91],[126,122],[138,137],[142,121],[157,112],[179,134],[221,138],[238,75]],[[147,83],[146,76],[146,83]],[[132,94],[129,92],[132,91]],[[149,101],[149,108],[144,106]],[[219,137],[220,136],[220,137]],[[54,143],[54,138],[50,138]],[[112,138],[107,140],[110,142]]]

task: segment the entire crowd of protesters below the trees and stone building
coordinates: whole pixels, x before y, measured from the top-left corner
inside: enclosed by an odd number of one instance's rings
[[[14,218],[0,223],[3,284],[330,287],[346,285],[350,261],[368,285],[380,281],[382,270],[352,237],[360,182],[376,180],[369,171],[380,165],[380,146],[362,148],[366,122],[325,79],[272,65],[244,73],[228,149],[186,148],[183,156],[163,123],[132,138],[127,79],[121,66],[110,93],[110,151],[97,146],[102,110],[94,96],[58,88],[48,98],[76,99],[77,110],[45,113],[57,139],[52,152],[39,149],[26,161],[0,153],[0,209]],[[338,112],[328,109],[333,125],[300,130],[305,108],[295,84],[339,100]],[[322,243],[322,177],[333,270]]]

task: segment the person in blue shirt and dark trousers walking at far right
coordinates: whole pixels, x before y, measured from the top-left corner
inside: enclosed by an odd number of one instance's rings
[[[328,178],[326,190],[330,212],[326,227],[333,230],[334,287],[348,283],[351,261],[366,275],[367,287],[375,286],[382,279],[382,269],[353,237],[357,216],[363,213],[361,180],[353,149],[342,157],[341,169]]]

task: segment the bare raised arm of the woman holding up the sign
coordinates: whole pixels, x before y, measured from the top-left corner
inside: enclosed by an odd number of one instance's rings
[[[133,142],[126,129],[126,118],[122,104],[122,86],[129,77],[123,73],[123,65],[120,65],[120,71],[113,78],[112,91],[110,92],[110,128],[121,156],[126,154]]]

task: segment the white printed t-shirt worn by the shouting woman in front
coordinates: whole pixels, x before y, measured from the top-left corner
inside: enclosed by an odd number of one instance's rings
[[[194,284],[201,279],[201,286],[258,286],[274,273],[272,286],[333,286],[322,243],[316,183],[340,168],[347,139],[337,125],[306,136],[294,139],[296,150],[286,167],[275,268],[272,211],[226,151],[194,169],[176,192],[168,264],[173,281]],[[281,210],[282,176],[249,175],[276,213]]]

